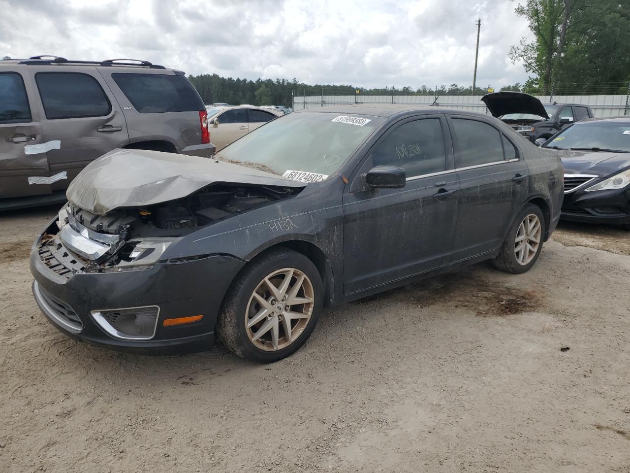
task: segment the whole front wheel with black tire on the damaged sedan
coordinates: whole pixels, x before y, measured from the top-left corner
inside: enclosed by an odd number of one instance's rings
[[[217,332],[232,353],[272,363],[301,347],[323,305],[318,269],[306,256],[278,249],[252,260],[227,293]]]

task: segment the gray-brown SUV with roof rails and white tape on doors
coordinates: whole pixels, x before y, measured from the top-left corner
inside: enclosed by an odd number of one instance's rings
[[[207,112],[181,71],[147,61],[0,61],[0,209],[66,201],[114,148],[210,156]]]

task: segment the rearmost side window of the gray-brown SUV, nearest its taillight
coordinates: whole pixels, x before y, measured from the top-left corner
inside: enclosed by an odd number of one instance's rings
[[[141,114],[205,110],[197,91],[183,76],[114,73],[112,78]]]

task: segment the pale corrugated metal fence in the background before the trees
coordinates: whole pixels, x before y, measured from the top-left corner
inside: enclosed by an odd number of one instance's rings
[[[442,95],[437,99],[431,95],[313,95],[294,96],[293,109],[326,107],[330,105],[351,105],[354,103],[394,103],[435,105],[454,110],[469,110],[487,114],[488,109],[481,102],[481,95]],[[629,115],[630,102],[627,95],[538,95],[542,103],[580,103],[588,105],[595,117],[617,117]]]

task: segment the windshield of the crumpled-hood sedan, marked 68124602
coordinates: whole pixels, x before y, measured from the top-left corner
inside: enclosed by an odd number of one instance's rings
[[[302,112],[284,115],[221,149],[215,158],[295,178],[324,178],[345,163],[385,119],[367,115]],[[300,175],[303,180],[308,175]]]

